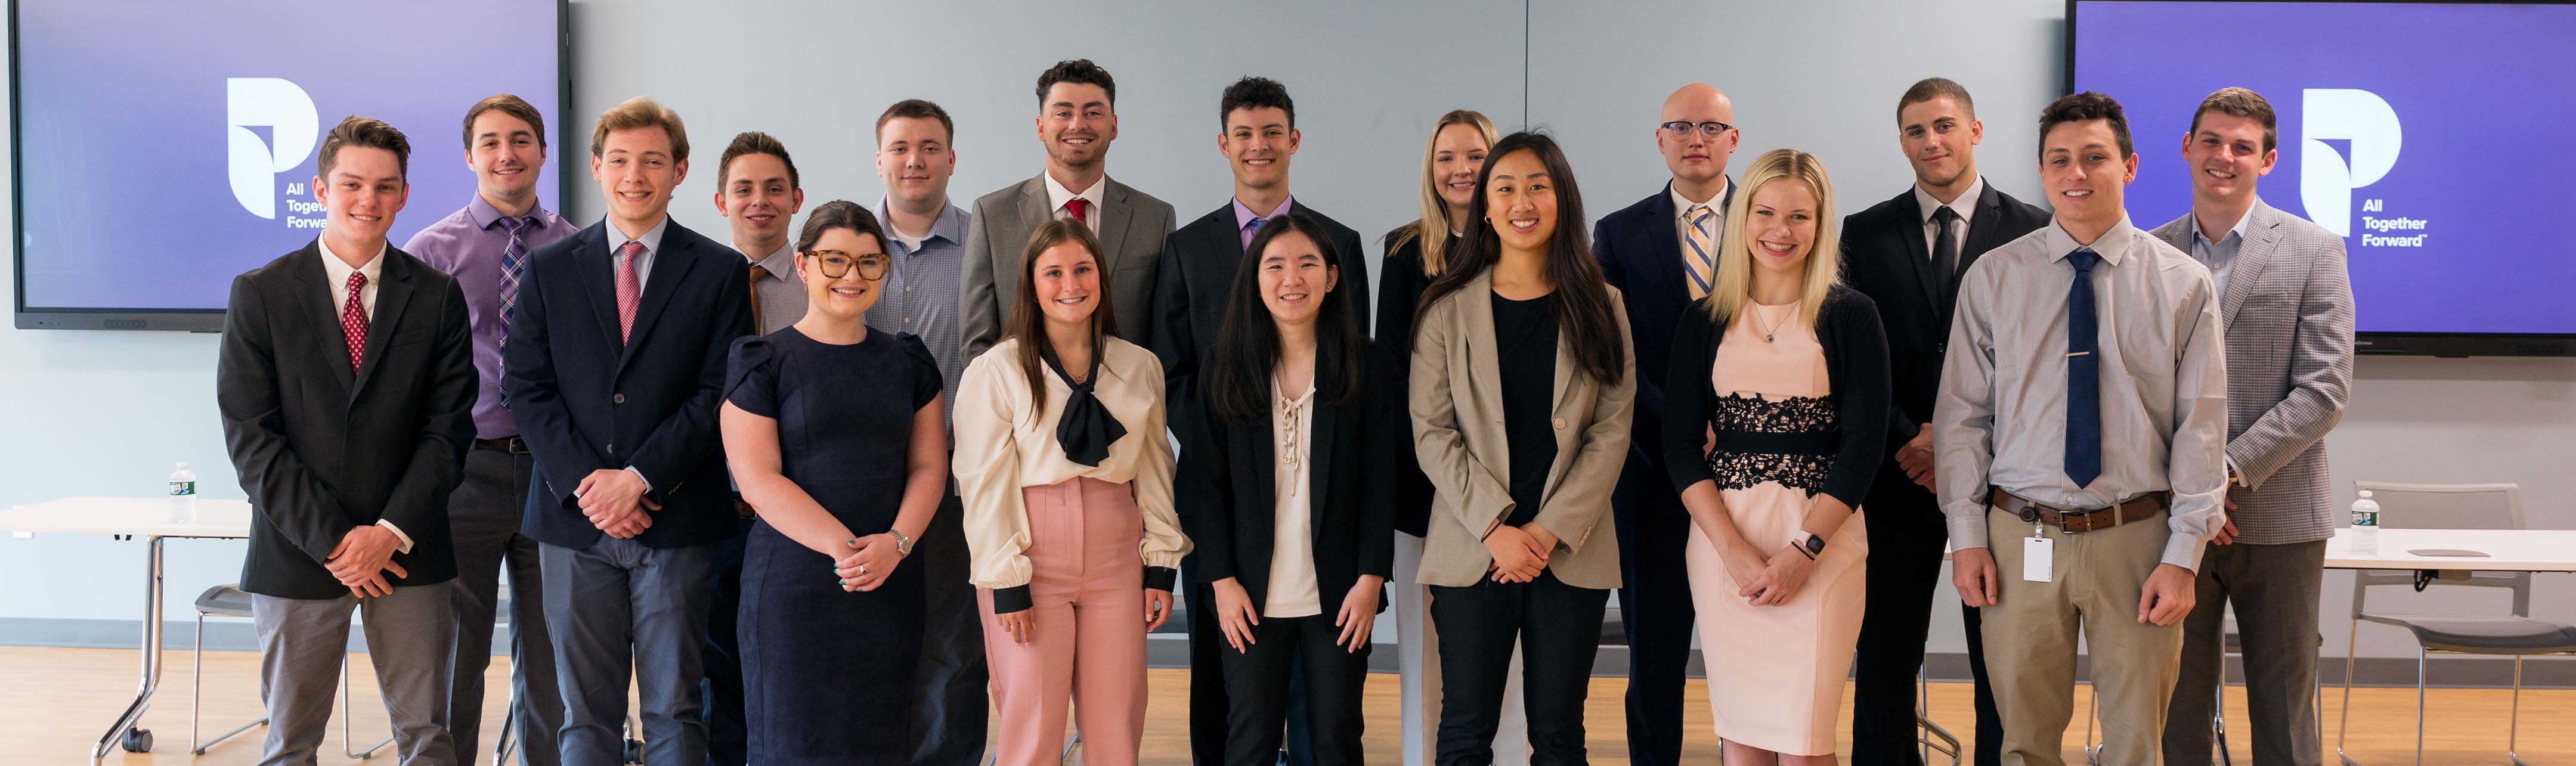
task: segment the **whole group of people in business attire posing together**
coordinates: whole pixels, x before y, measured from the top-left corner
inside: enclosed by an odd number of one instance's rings
[[[2105,763],[2208,761],[2226,601],[2257,758],[2318,761],[2352,297],[2342,240],[2254,193],[2262,95],[2200,103],[2156,230],[2099,93],[2040,113],[2040,209],[1922,80],[1914,186],[1839,217],[1816,155],[1728,175],[1734,106],[1685,85],[1672,181],[1589,235],[1548,134],[1450,111],[1376,289],[1291,196],[1280,83],[1224,90],[1234,196],[1188,224],[1108,178],[1115,95],[1048,67],[1043,173],[971,209],[935,103],[876,121],[876,209],[806,211],[744,132],[732,242],[670,219],[688,134],[649,98],[592,126],[590,227],[536,199],[544,116],[477,103],[477,196],[404,248],[410,142],[335,126],[327,227],[234,281],[219,364],[263,763],[312,763],[350,609],[402,761],[471,763],[502,570],[528,763],[621,763],[629,681],[644,763],[976,763],[987,694],[999,763],[1056,763],[1066,717],[1133,763],[1175,611],[1198,763],[1360,763],[1388,609],[1437,763],[1584,763],[1607,591],[1636,763],[1680,761],[1692,632],[1728,763],[1832,763],[1852,668],[1852,758],[1914,763],[1945,544],[1981,766],[2058,761],[2079,634]]]

